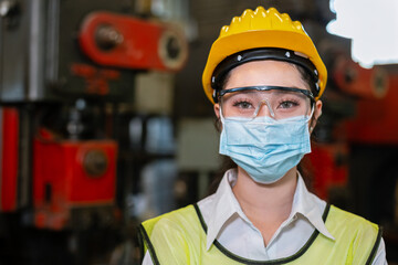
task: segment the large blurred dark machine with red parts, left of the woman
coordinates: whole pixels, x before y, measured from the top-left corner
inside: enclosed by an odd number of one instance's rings
[[[128,234],[123,109],[137,73],[175,73],[188,54],[178,26],[134,13],[0,1],[0,264],[92,264]]]

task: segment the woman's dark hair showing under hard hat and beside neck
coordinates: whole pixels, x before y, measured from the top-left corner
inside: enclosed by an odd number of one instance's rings
[[[291,65],[293,65],[300,73],[302,80],[308,84],[308,87],[313,87],[313,78],[310,75],[310,73],[301,65],[297,64],[293,64],[290,63]],[[231,71],[229,71],[226,75],[224,78],[221,81],[222,83],[222,89],[224,89],[229,78],[231,76]],[[221,120],[220,118],[216,118],[214,120],[214,127],[217,129],[218,132],[221,132]],[[313,140],[312,140],[313,141]],[[297,170],[300,171],[300,173],[302,174],[305,184],[307,186],[307,188],[311,190],[312,188],[312,182],[313,182],[313,176],[311,176],[311,173],[306,170],[306,165],[307,162],[304,162],[303,160],[300,161],[300,163],[297,165]],[[216,173],[216,177],[213,178],[213,180],[211,181],[210,186],[209,186],[209,190],[208,190],[208,194],[212,194],[217,191],[218,186],[221,182],[221,179],[224,174],[224,172],[231,168],[237,168],[238,165],[228,156],[222,156],[222,161],[221,161],[221,167],[220,170]]]

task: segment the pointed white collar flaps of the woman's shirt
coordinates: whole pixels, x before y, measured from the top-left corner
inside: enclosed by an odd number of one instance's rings
[[[213,203],[210,204],[210,215],[207,221],[207,241],[206,241],[206,250],[209,250],[214,240],[218,237],[222,226],[235,213],[240,215],[240,218],[244,219],[248,223],[251,223],[247,220],[245,214],[239,205],[237,198],[232,192],[232,187],[237,181],[237,170],[230,169],[228,170],[221,182],[219,188],[216,191]],[[297,187],[294,193],[292,212],[289,219],[293,218],[297,213],[305,216],[312,225],[320,231],[326,237],[334,240],[331,233],[327,231],[325,223],[322,219],[323,210],[318,206],[318,198],[308,192],[305,187],[304,180],[298,173],[297,178]]]

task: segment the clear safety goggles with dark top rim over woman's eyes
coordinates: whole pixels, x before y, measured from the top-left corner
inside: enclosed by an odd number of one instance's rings
[[[307,89],[247,86],[219,91],[219,102],[224,118],[251,120],[262,112],[262,107],[266,107],[265,115],[279,120],[311,115],[315,100]]]

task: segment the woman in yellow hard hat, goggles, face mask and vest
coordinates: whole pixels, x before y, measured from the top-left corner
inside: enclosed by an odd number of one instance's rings
[[[221,30],[202,83],[230,169],[217,192],[140,226],[143,264],[386,264],[380,229],[310,193],[327,72],[300,22],[247,10]]]

